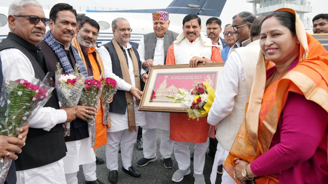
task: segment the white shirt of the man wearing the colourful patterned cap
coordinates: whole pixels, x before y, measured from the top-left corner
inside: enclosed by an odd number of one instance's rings
[[[156,36],[156,35],[155,35]],[[156,47],[155,47],[155,53],[154,53],[154,59],[153,59],[153,64],[154,65],[158,65],[164,64],[164,37],[163,38],[157,38],[157,42],[156,42]],[[145,42],[144,42],[144,37],[142,36],[142,38],[140,39],[140,43],[139,43],[139,47],[138,47],[138,53],[140,56],[140,61],[143,63],[146,61],[145,59]],[[145,71],[148,71],[149,68],[146,67]],[[141,74],[142,75],[142,74]]]

